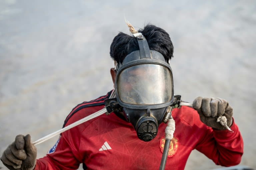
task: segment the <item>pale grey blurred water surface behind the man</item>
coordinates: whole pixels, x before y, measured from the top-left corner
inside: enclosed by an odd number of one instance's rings
[[[137,29],[151,23],[170,34],[175,94],[230,103],[244,139],[240,165],[256,168],[256,1],[249,0],[1,0],[0,154],[17,134],[35,141],[62,128],[73,107],[113,88],[109,47],[118,32],[129,34],[124,15]],[[38,158],[57,138],[37,145]],[[219,167],[193,151],[185,169]]]

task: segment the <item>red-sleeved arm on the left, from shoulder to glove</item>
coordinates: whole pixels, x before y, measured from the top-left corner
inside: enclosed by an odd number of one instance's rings
[[[73,111],[74,110],[75,109],[73,109]],[[70,119],[68,119],[68,121],[65,121],[66,123],[64,126],[68,126],[77,120],[80,120],[90,115],[91,113],[94,113],[94,111],[95,110],[91,109],[89,111],[80,109],[77,111],[76,115],[73,115],[70,117]],[[89,124],[90,121],[63,132],[59,138],[59,141],[57,141],[55,144],[56,147],[53,147],[53,150],[50,151],[51,153],[48,153],[45,157],[37,160],[35,170],[78,169],[79,164],[83,162],[85,157],[83,153],[80,153],[81,137],[83,135],[83,130],[85,127],[89,126]]]

